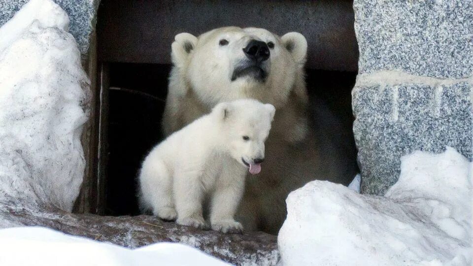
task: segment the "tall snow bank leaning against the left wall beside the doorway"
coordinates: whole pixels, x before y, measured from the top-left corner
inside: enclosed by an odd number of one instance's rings
[[[68,22],[31,0],[0,28],[0,200],[70,211],[79,193],[89,80]]]

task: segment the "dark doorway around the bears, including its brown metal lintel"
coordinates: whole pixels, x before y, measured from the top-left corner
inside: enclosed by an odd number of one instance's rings
[[[161,117],[175,34],[198,35],[229,25],[281,35],[303,33],[309,43],[306,81],[311,102],[326,104],[353,138],[351,89],[358,60],[353,22],[350,0],[102,0],[97,24],[100,159],[94,177],[97,193],[89,193],[101,198],[94,200],[95,212],[138,214],[137,171],[163,138]]]

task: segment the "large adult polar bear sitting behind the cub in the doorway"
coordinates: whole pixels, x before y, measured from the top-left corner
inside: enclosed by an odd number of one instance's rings
[[[354,157],[347,158],[349,145],[334,140],[334,117],[309,104],[306,52],[300,33],[279,37],[257,28],[219,28],[199,37],[180,33],[172,43],[166,135],[222,101],[254,98],[276,107],[265,169],[247,177],[238,212],[247,230],[277,233],[291,191],[314,179],[346,185],[356,172]]]

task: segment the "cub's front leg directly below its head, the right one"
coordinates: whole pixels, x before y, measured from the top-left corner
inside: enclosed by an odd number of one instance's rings
[[[224,169],[217,180],[211,200],[210,225],[223,233],[241,233],[243,226],[235,221],[235,213],[244,192],[246,171],[241,166]]]

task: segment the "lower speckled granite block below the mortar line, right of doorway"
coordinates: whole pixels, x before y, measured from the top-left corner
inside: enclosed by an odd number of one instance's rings
[[[403,155],[455,148],[473,159],[473,86],[458,82],[355,87],[353,125],[362,193],[384,195],[398,180]]]

